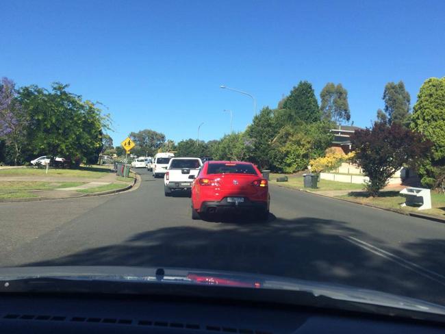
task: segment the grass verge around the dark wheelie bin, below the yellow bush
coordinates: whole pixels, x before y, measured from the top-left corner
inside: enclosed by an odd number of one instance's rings
[[[303,175],[287,175],[287,182],[277,182],[277,177],[283,177],[283,174],[270,174],[270,184],[281,185],[283,187],[303,189]],[[320,180],[318,182],[317,189],[306,188],[311,191],[323,191],[323,190],[361,190],[363,185],[357,183],[337,182],[330,180]]]

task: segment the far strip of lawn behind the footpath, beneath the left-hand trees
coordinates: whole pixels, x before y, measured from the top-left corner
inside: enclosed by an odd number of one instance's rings
[[[85,178],[100,178],[104,177],[110,173],[110,168],[99,168],[99,167],[84,167],[81,166],[78,169],[60,169],[60,168],[49,168],[48,174],[44,168],[10,168],[0,170],[1,176],[14,176],[14,177],[25,177],[25,176],[48,176],[48,177],[85,177]]]

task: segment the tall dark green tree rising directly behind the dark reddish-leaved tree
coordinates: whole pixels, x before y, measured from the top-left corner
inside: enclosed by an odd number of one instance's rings
[[[385,109],[377,111],[377,118],[383,122],[391,125],[392,123],[400,123],[407,125],[409,122],[409,104],[411,97],[409,92],[405,89],[403,81],[388,82],[383,91],[383,101],[385,101]]]

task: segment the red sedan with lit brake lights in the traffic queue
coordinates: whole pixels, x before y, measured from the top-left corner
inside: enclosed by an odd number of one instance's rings
[[[268,181],[250,162],[205,162],[192,184],[192,219],[228,210],[269,215]]]

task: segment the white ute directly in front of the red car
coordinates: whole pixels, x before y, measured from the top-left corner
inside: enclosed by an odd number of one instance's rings
[[[203,162],[199,157],[174,157],[164,176],[164,194],[170,196],[177,190],[190,191]]]

